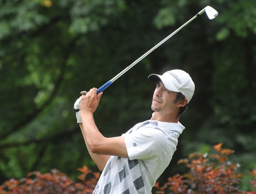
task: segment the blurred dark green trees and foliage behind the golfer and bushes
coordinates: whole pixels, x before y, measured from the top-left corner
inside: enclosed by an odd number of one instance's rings
[[[188,72],[196,84],[170,166],[222,142],[241,173],[256,168],[255,0],[0,0],[0,183],[57,168],[76,179],[86,150],[73,104],[205,6],[198,17],[104,91],[95,114],[104,136],[149,119],[152,73]],[[247,176],[243,187],[246,188]]]

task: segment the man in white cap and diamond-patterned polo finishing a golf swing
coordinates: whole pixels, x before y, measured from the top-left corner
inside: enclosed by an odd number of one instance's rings
[[[102,92],[93,88],[76,101],[74,108],[87,149],[102,174],[94,194],[150,194],[156,180],[176,151],[184,130],[179,118],[191,100],[195,84],[182,70],[152,74],[157,82],[150,120],[136,124],[122,136],[101,135],[94,122]]]

